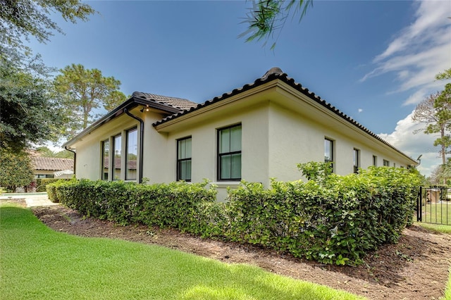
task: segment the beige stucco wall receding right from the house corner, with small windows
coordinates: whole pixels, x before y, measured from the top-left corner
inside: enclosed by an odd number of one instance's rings
[[[390,166],[395,163],[397,167],[407,168],[404,156],[340,120],[323,123],[309,109],[295,111],[281,106],[280,101],[271,103],[269,115],[269,173],[277,180],[301,178],[297,163],[324,161],[326,137],[334,141],[333,168],[334,173],[339,175],[354,172],[354,149],[359,149],[361,168],[373,165],[373,156],[377,156],[379,166],[385,159],[390,161]]]

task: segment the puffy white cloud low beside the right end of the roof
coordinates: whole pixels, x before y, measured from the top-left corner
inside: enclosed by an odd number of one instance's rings
[[[414,134],[415,130],[424,128],[425,124],[412,122],[412,114],[413,111],[406,118],[399,120],[395,131],[392,133],[380,133],[378,136],[414,159],[422,155],[421,165],[419,165],[418,169],[421,174],[427,177],[441,163],[441,158],[438,154],[440,149],[433,146],[437,136],[426,135],[424,132]]]

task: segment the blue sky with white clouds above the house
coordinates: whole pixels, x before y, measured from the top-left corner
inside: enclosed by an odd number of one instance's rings
[[[81,63],[149,92],[204,102],[278,66],[404,153],[440,164],[436,137],[412,132],[411,113],[443,89],[451,67],[451,1],[314,1],[276,32],[276,49],[238,38],[251,1],[87,1],[88,22],[58,22],[66,35],[32,42],[44,63]],[[272,40],[268,42],[272,44]],[[420,126],[421,127],[421,126]]]

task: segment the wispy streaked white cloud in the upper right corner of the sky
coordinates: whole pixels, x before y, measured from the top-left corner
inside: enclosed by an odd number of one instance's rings
[[[413,90],[403,105],[443,88],[434,77],[451,66],[451,5],[449,1],[415,1],[415,20],[393,38],[383,53],[373,59],[376,67],[360,80],[395,73],[399,87],[393,92]]]

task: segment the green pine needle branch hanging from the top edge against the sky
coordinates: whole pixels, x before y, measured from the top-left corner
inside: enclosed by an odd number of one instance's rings
[[[246,14],[247,18],[242,22],[248,23],[249,27],[239,37],[247,36],[246,42],[251,42],[254,39],[259,41],[263,38],[267,42],[277,30],[282,30],[288,16],[292,14],[294,17],[294,15],[299,14],[300,22],[310,6],[313,6],[313,0],[252,1],[252,8],[249,8],[249,13]],[[266,42],[264,42],[264,46]],[[275,46],[276,42],[273,42],[271,49],[274,49]]]

